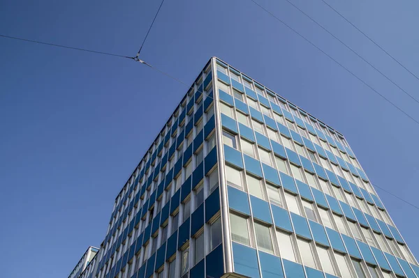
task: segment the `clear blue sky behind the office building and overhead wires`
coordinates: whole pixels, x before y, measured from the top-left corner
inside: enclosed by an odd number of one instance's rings
[[[258,0],[397,105],[416,102],[284,0]],[[419,99],[419,81],[321,0],[291,0]],[[419,3],[331,1],[419,75]],[[134,56],[159,1],[3,1],[0,33]],[[0,38],[2,277],[66,277],[186,90],[128,59]],[[219,56],[346,136],[372,183],[418,203],[419,125],[249,0],[167,0],[142,59],[191,84]],[[414,254],[418,210],[377,190]]]

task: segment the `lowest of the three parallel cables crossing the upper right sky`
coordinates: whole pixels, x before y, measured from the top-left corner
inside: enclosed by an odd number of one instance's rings
[[[302,36],[302,34],[299,33],[298,31],[296,31],[295,29],[293,29],[293,27],[291,27],[290,25],[286,24],[286,22],[284,22],[283,20],[279,19],[279,17],[277,17],[276,15],[274,15],[273,13],[271,13],[269,10],[265,9],[263,6],[260,6],[260,4],[258,2],[254,1],[254,0],[250,0],[250,1],[252,1],[253,3],[255,3],[256,6],[258,6],[262,10],[265,10],[265,13],[268,13],[269,15],[271,15],[272,17],[274,17],[274,19],[276,19],[279,22],[281,22],[282,24],[284,24],[288,29],[290,29],[291,31],[293,31],[294,33],[296,33],[298,36],[300,36],[302,39],[304,39],[305,41],[307,41],[307,43],[309,43],[310,45],[316,47],[316,49],[318,49],[318,51],[320,51],[321,53],[325,54],[325,56],[328,56],[332,61],[334,61],[335,63],[337,63],[337,65],[341,66],[341,68],[344,68],[344,70],[346,70],[347,72],[349,72],[349,74],[351,74],[353,77],[355,77],[360,82],[362,82],[362,84],[365,84],[365,86],[367,86],[372,91],[374,91],[374,93],[376,93],[377,95],[379,95],[385,101],[387,101],[388,103],[390,103],[390,105],[392,105],[393,107],[395,107],[397,110],[399,110],[400,112],[402,112],[405,116],[407,116],[408,118],[410,118],[412,121],[414,121],[415,123],[417,123],[419,125],[419,121],[418,120],[416,120],[415,118],[413,118],[412,116],[410,116],[409,114],[407,114],[402,108],[400,108],[399,106],[395,105],[395,103],[393,103],[391,100],[389,100],[388,98],[385,98],[384,95],[382,95],[375,88],[373,88],[372,86],[370,86],[369,84],[367,84],[367,82],[365,82],[363,79],[361,79],[360,77],[358,77],[358,75],[355,75],[355,73],[353,73],[351,70],[349,70],[348,68],[346,68],[344,65],[342,65],[341,63],[339,63],[339,61],[337,61],[335,58],[333,58],[328,53],[326,53],[323,49],[321,49],[320,47],[318,47],[314,43],[311,43],[311,40],[309,40],[308,38]]]

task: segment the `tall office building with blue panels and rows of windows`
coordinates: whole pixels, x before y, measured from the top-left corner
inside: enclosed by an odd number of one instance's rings
[[[216,58],[117,196],[90,268],[84,277],[419,277],[344,136]]]

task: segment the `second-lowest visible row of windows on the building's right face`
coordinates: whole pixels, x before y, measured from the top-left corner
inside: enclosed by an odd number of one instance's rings
[[[227,178],[227,184],[233,187],[237,187],[240,190],[244,189],[244,183],[242,181],[242,176],[240,171],[237,171],[236,169],[229,167],[226,165],[226,176]],[[249,194],[252,194],[253,196],[256,196],[260,199],[268,200],[270,203],[280,206],[282,208],[285,208],[285,203],[288,208],[293,213],[296,213],[297,215],[305,216],[308,219],[311,219],[314,222],[318,222],[323,224],[324,226],[328,226],[331,229],[337,229],[341,233],[344,233],[346,235],[352,236],[348,229],[346,229],[346,225],[344,224],[344,218],[340,217],[338,215],[335,215],[332,213],[334,219],[335,219],[335,226],[332,224],[332,220],[330,218],[330,212],[328,210],[325,210],[324,208],[314,206],[314,203],[311,203],[307,200],[298,198],[297,196],[289,193],[289,192],[282,192],[281,189],[274,187],[270,184],[263,183],[263,180],[259,180],[258,178],[254,178],[253,176],[246,175],[247,180],[247,191]],[[337,189],[337,187],[335,187]],[[285,196],[285,197],[284,197]],[[284,202],[284,199],[286,200]],[[359,200],[362,201],[362,200]],[[318,211],[314,208],[316,207]],[[303,213],[304,212],[304,213]],[[304,215],[305,214],[305,215]],[[320,217],[319,217],[320,215]],[[320,222],[321,219],[321,222]],[[367,229],[365,227],[361,226],[362,234],[365,236],[365,238],[362,238],[362,235],[360,234],[360,230],[358,228],[358,224],[356,222],[351,222],[348,220],[348,224],[351,233],[353,234],[354,238],[357,238],[358,240],[361,240],[363,242],[368,243],[369,245],[372,245],[374,247],[380,247],[383,245],[383,235],[376,234],[377,242],[374,242],[372,239],[372,230]],[[414,258],[407,249],[406,245],[399,245],[399,248],[397,248],[397,244],[395,240],[389,239],[389,245],[384,245],[385,248],[384,251],[390,252],[390,249],[388,246],[392,246],[392,253],[395,254],[395,256],[403,257],[400,254],[399,249],[402,250],[402,254],[404,254],[404,258],[407,261],[410,261],[411,263],[414,262]],[[396,245],[396,247],[395,247]]]

